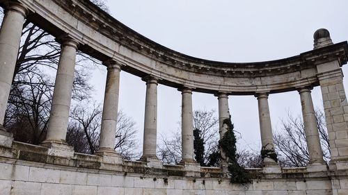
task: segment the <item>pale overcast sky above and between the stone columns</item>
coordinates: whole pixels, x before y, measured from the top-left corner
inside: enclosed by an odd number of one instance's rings
[[[276,60],[313,49],[313,33],[327,28],[334,43],[348,40],[347,0],[109,0],[111,15],[145,37],[190,56],[226,62]],[[348,67],[348,66],[347,66]],[[348,68],[343,67],[348,75]],[[95,96],[104,96],[106,71],[96,71]],[[348,81],[344,80],[346,91]],[[312,92],[322,108],[319,87]],[[229,96],[230,113],[242,139],[239,146],[260,149],[258,102],[254,96]],[[181,94],[158,86],[157,132],[180,130]],[[287,110],[301,114],[297,92],[271,94],[269,106],[274,130]],[[136,121],[140,149],[143,140],[145,83],[121,72],[119,110]],[[193,109],[218,109],[212,94],[193,93]],[[217,113],[217,112],[216,112]],[[158,136],[159,137],[159,136]]]

